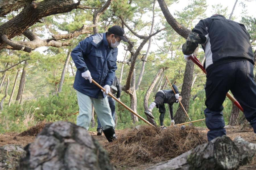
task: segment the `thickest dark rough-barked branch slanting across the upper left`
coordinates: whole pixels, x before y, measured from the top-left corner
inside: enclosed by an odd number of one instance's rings
[[[12,39],[16,35],[23,33],[41,18],[70,12],[73,9],[77,9],[79,5],[80,1],[75,3],[73,0],[47,0],[30,3],[17,16],[0,26],[0,49],[5,46],[1,39],[2,35],[6,35],[7,39]],[[10,46],[12,47],[12,45]]]

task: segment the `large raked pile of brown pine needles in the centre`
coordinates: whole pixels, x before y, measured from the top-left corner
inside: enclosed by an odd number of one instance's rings
[[[116,166],[132,166],[175,158],[196,146],[206,143],[207,138],[194,127],[181,130],[179,126],[161,130],[142,126],[118,136],[106,150]]]

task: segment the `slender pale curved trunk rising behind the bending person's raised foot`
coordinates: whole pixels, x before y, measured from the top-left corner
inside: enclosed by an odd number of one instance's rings
[[[144,106],[144,110],[148,110],[148,98],[151,94],[151,92],[153,91],[154,86],[156,85],[157,80],[159,79],[160,75],[162,74],[163,69],[161,68],[158,73],[156,74],[156,77],[154,78],[154,80],[152,81],[151,85],[148,87],[148,90],[146,91],[146,94],[144,96],[144,101],[143,101],[143,106]],[[148,115],[146,115],[148,121],[154,125],[156,125],[156,122],[154,121],[154,119],[150,118]]]

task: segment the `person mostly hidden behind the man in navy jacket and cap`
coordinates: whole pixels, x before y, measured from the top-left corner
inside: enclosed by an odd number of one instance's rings
[[[120,100],[122,87],[119,83],[119,79],[116,76],[115,76],[115,79],[114,79],[112,85],[117,88],[117,91],[113,92],[113,90],[110,86],[110,90],[111,90],[112,95],[115,96],[118,100]],[[109,107],[110,107],[110,110],[111,110],[111,114],[112,114],[113,120],[115,121],[115,100],[109,95],[107,95],[107,97],[108,97],[108,103],[109,103]],[[100,123],[100,119],[98,117],[97,117],[97,122],[98,122],[97,135],[99,136],[99,135],[102,135],[103,127],[102,127],[102,125]]]

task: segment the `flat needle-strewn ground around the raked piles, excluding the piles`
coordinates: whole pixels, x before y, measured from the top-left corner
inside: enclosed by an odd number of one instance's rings
[[[204,136],[204,138],[206,138],[207,131],[208,131],[207,128],[195,127],[195,129],[197,129],[199,131],[200,135],[202,135],[202,136]],[[168,130],[170,131],[170,128]],[[117,135],[117,137],[119,137],[119,136],[123,137],[126,134],[128,134],[128,135],[129,135],[129,133],[131,134],[132,131],[134,131],[134,129],[116,130],[116,135]],[[241,136],[246,141],[256,143],[256,137],[253,132],[253,129],[241,129],[240,126],[233,126],[233,127],[227,127],[226,131],[227,131],[227,136],[230,137],[232,140],[237,136]],[[113,149],[115,149],[115,148],[113,147],[113,145],[109,144],[109,142],[106,140],[104,135],[97,136],[96,132],[89,132],[89,133],[92,135],[92,137],[96,138],[106,150],[109,151],[110,159],[113,158],[113,156],[111,154],[114,152],[111,152],[110,148],[113,148]],[[26,136],[26,135],[19,136],[17,133],[0,134],[0,146],[4,146],[7,144],[17,144],[17,145],[21,145],[21,146],[26,146],[28,143],[33,142],[34,138],[35,138],[35,136]],[[157,157],[156,159],[154,159],[152,161],[148,161],[146,163],[142,161],[140,163],[140,159],[137,159],[136,160],[137,163],[127,165],[127,163],[126,163],[127,160],[125,160],[125,159],[123,160],[123,164],[122,164],[122,162],[119,162],[118,164],[116,164],[115,161],[111,159],[111,161],[113,162],[113,164],[115,166],[115,169],[117,169],[117,170],[145,169],[147,167],[153,166],[157,163],[160,163],[160,162],[166,161],[166,160],[168,160],[168,159],[166,159],[166,158],[161,159],[161,157]],[[252,160],[251,163],[244,165],[244,166],[240,167],[239,169],[240,170],[256,169],[256,157]]]

